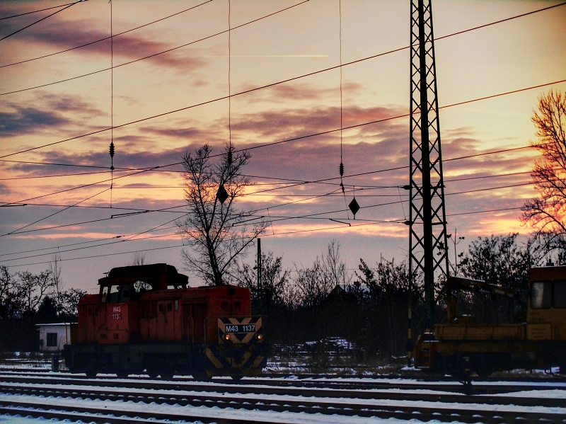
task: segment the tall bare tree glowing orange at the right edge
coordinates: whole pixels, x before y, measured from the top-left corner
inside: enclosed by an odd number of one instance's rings
[[[531,146],[541,151],[531,176],[538,197],[521,208],[522,222],[538,226],[538,234],[566,234],[566,96],[549,91],[538,98],[538,111],[531,120],[536,126],[537,142]]]

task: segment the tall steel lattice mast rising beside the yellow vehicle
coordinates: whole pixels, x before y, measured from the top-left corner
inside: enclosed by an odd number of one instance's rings
[[[410,25],[410,195],[409,291],[415,278],[424,280],[425,327],[434,329],[434,280],[446,280],[448,239],[444,207],[444,177],[440,145],[436,63],[431,0],[411,0]],[[409,325],[412,298],[410,294]],[[409,327],[409,347],[412,345]]]

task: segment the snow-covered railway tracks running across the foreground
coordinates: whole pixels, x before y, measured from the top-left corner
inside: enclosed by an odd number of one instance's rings
[[[316,414],[324,416],[325,423],[366,422],[368,418],[486,424],[516,420],[518,423],[540,423],[541,420],[566,423],[564,399],[465,396],[410,390],[329,390],[247,384],[248,381],[246,384],[155,384],[146,379],[133,387],[132,382],[110,379],[71,379],[70,382],[41,379],[40,386],[30,382],[6,382],[4,377],[1,376],[3,382],[0,383],[0,413],[47,419],[122,423],[149,418],[179,420],[182,416],[184,420],[198,419],[206,423],[270,423],[282,422],[281,418],[285,417],[289,420],[284,422],[302,423]],[[92,386],[92,383],[100,384]],[[150,411],[156,405],[158,413]],[[74,415],[69,418],[71,412]],[[226,420],[226,416],[230,418]]]

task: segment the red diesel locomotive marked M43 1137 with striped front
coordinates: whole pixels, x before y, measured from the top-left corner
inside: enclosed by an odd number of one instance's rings
[[[62,352],[67,367],[87,377],[260,375],[268,348],[250,291],[187,288],[187,281],[165,263],[112,268],[98,280],[99,294],[79,300],[79,322]]]

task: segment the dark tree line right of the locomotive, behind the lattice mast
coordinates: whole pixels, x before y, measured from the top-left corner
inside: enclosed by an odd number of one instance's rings
[[[564,264],[562,254],[534,234],[524,242],[518,234],[478,237],[451,263],[455,274],[516,290],[519,299],[492,299],[483,293],[458,293],[458,314],[475,323],[522,322],[526,313],[529,270],[549,258]],[[408,308],[412,303],[412,331],[424,331],[422,287],[410,290],[406,260],[360,259],[358,269],[347,269],[340,243],[333,240],[308,268],[284,270],[282,258],[262,253],[262,283],[257,270],[240,265],[233,277],[252,296],[253,314],[267,316],[273,343],[300,345],[328,337],[345,338],[357,346],[358,357],[391,359],[406,354]],[[415,278],[415,281],[419,281]],[[442,282],[437,282],[437,322],[446,322]]]

